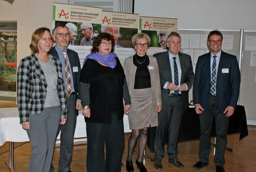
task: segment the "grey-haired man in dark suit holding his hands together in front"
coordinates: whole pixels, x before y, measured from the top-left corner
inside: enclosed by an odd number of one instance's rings
[[[158,114],[158,127],[154,140],[154,168],[162,169],[165,140],[169,163],[184,168],[178,160],[177,139],[181,117],[188,108],[188,90],[194,81],[191,57],[181,53],[181,36],[172,32],[167,39],[166,52],[154,54],[158,61],[161,81],[162,111]]]

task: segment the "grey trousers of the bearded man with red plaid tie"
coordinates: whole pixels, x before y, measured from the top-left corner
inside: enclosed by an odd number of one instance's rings
[[[64,125],[59,124],[56,137],[60,134],[60,159],[59,159],[59,172],[70,171],[70,165],[72,162],[73,143],[76,126],[76,114],[75,114],[75,94],[66,97],[67,101],[67,121]],[[60,132],[61,131],[61,132]],[[54,171],[54,167],[51,164],[50,172]]]

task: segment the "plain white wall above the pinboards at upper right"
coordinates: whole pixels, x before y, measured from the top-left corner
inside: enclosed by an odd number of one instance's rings
[[[178,29],[256,30],[256,0],[135,0],[140,16],[178,19]]]

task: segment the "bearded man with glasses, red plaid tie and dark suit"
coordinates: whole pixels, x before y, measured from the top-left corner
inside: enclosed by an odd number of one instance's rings
[[[59,172],[71,172],[70,165],[72,162],[76,117],[78,116],[78,110],[82,109],[79,95],[81,66],[78,54],[73,50],[67,49],[69,43],[69,31],[67,26],[56,26],[53,30],[53,39],[56,45],[53,47],[51,54],[60,59],[62,64],[68,114],[66,124],[59,125],[57,132],[58,136],[61,131]],[[53,165],[51,165],[50,172],[53,172],[53,170]]]

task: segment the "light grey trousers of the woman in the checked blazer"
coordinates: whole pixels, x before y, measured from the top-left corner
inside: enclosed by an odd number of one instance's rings
[[[27,130],[32,152],[29,172],[49,172],[60,116],[60,105],[30,115],[30,130]]]

